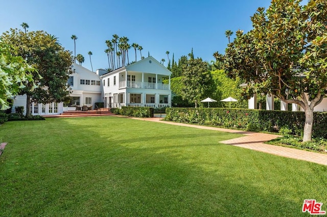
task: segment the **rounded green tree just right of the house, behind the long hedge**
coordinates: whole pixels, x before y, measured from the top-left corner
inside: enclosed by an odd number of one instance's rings
[[[214,91],[212,75],[201,58],[191,59],[183,66],[182,84],[183,100],[194,102],[195,107]]]

